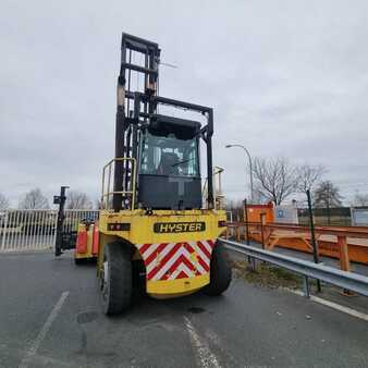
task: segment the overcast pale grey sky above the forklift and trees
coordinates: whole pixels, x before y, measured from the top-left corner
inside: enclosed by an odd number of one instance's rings
[[[0,193],[100,194],[113,157],[122,32],[157,41],[160,95],[214,109],[213,161],[248,196],[246,157],[322,164],[368,193],[367,1],[17,1],[0,5]],[[290,198],[292,199],[292,197]]]

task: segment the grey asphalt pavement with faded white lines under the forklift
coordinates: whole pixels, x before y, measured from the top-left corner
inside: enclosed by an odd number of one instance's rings
[[[243,280],[108,318],[93,265],[0,255],[1,367],[367,367],[367,342],[366,321]]]

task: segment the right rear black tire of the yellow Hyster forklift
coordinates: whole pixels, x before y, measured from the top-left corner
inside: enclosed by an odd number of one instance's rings
[[[207,295],[221,295],[230,285],[231,267],[225,249],[219,243],[216,244],[210,265],[210,283],[204,290]]]

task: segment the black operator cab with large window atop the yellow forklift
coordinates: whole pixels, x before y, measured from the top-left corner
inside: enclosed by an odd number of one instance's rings
[[[150,209],[201,208],[200,123],[152,114],[139,139],[138,203]]]

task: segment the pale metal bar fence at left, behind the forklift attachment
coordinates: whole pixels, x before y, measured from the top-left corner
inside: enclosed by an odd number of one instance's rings
[[[64,232],[76,231],[84,219],[96,220],[98,211],[65,210]],[[58,211],[10,209],[0,212],[0,253],[52,249]]]

